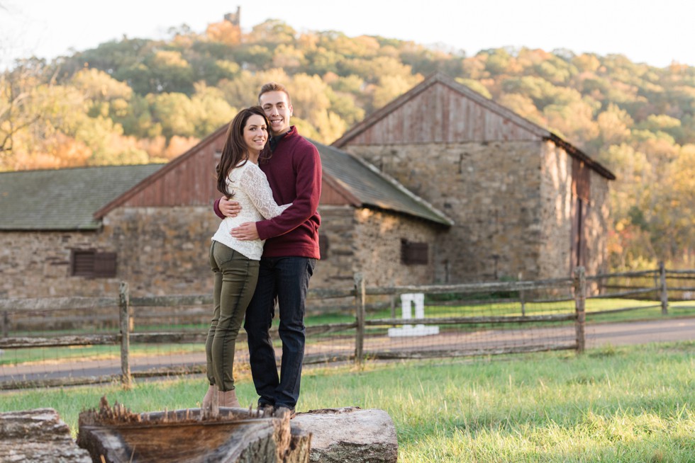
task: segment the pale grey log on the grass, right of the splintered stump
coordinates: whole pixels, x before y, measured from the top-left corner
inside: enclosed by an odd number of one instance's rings
[[[396,463],[396,428],[383,410],[323,408],[297,413],[292,428],[311,433],[310,462]]]

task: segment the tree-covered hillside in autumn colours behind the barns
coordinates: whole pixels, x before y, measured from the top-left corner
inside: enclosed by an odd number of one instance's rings
[[[301,133],[330,144],[439,70],[611,169],[613,270],[695,266],[695,68],[498,48],[468,57],[378,36],[229,21],[123,38],[0,74],[0,170],[161,162],[286,84]],[[37,185],[40,188],[40,185]]]

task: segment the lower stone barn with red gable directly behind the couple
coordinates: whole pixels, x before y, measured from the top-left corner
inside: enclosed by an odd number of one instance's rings
[[[226,127],[169,164],[0,173],[0,297],[205,294]],[[443,213],[355,156],[316,144],[321,255],[311,287],[433,282]]]

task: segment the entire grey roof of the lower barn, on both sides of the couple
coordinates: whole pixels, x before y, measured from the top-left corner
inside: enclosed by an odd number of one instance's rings
[[[218,130],[213,135],[224,134]],[[138,195],[155,178],[173,175],[188,156],[168,164],[98,166],[0,173],[0,230],[94,230],[101,218]],[[374,207],[438,224],[453,222],[403,185],[347,152],[313,142],[321,154],[323,181],[355,207]],[[156,206],[156,204],[152,204]]]

